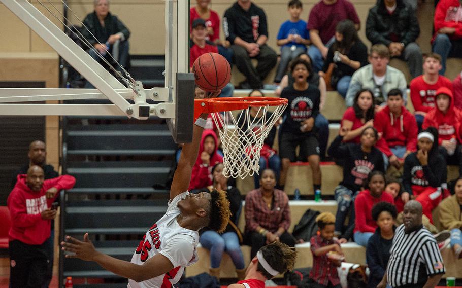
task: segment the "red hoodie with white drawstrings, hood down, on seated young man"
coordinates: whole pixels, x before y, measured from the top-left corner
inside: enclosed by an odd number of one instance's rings
[[[376,147],[386,156],[393,155],[390,147],[397,145],[406,146],[406,150],[411,152],[416,151],[417,122],[406,107],[402,107],[399,117],[394,117],[388,106],[383,107],[374,117],[374,128],[381,135]]]

